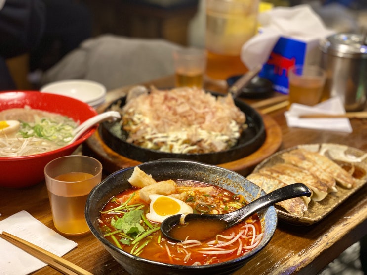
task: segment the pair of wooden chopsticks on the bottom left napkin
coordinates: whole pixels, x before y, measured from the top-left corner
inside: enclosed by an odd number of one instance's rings
[[[40,259],[42,262],[50,265],[54,269],[67,275],[93,275],[89,271],[82,269],[81,267],[65,260],[33,243],[30,243],[22,238],[14,236],[5,231],[0,234],[0,237],[21,248],[32,256]]]

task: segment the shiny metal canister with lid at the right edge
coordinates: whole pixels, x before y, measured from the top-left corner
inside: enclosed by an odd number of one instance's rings
[[[339,96],[346,111],[365,108],[367,45],[358,34],[335,34],[320,41],[321,66],[327,72],[325,92]]]

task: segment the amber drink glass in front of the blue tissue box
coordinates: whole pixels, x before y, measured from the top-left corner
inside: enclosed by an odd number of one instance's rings
[[[288,70],[289,104],[313,106],[321,101],[326,80],[324,69],[314,65],[295,65]]]

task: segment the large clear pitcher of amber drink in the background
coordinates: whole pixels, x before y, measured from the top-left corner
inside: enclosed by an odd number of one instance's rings
[[[206,75],[225,80],[248,71],[241,48],[257,32],[259,0],[206,0]]]

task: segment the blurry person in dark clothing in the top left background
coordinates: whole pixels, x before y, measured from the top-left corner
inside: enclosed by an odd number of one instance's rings
[[[90,12],[77,0],[0,0],[0,7],[0,91],[17,88],[6,59],[28,53],[30,72],[42,72],[91,36]]]

